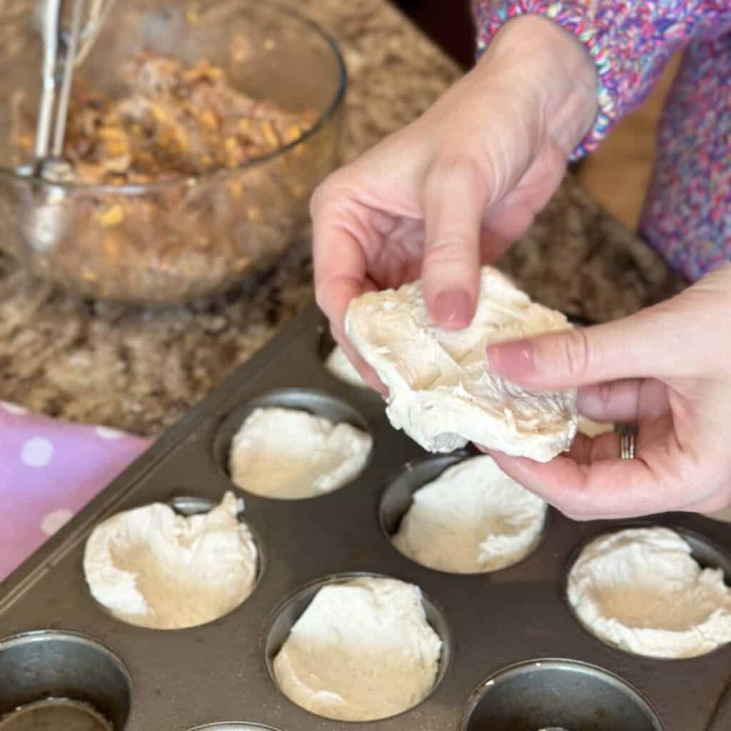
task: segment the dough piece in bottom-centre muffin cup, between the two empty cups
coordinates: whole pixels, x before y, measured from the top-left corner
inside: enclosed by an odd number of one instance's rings
[[[442,640],[417,586],[364,577],[321,588],[274,659],[282,692],[318,716],[374,721],[431,691]]]

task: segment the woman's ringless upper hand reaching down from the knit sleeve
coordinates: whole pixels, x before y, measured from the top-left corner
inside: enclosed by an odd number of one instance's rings
[[[586,50],[550,20],[516,18],[422,117],[317,189],[317,301],[371,385],[344,337],[350,300],[421,276],[436,325],[469,325],[480,264],[529,227],[595,115]]]

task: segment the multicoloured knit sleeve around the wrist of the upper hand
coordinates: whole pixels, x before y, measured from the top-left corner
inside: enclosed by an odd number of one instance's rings
[[[543,15],[583,42],[599,71],[599,113],[575,157],[643,102],[673,51],[731,29],[729,0],[473,0],[478,53],[518,15]]]

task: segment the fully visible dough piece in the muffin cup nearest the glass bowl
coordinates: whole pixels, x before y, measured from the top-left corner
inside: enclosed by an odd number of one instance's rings
[[[256,409],[233,438],[231,479],[255,495],[311,498],[354,480],[372,446],[370,434],[347,423],[298,409]]]

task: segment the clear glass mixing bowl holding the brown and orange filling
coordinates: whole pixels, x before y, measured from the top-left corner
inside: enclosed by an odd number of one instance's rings
[[[39,97],[33,7],[9,0],[0,11],[0,247],[77,295],[144,305],[217,294],[281,256],[336,164],[346,74],[335,43],[262,0],[122,0],[80,69],[91,90],[116,98],[120,64],[150,50],[188,64],[205,58],[235,89],[314,110],[316,121],[232,169],[143,185],[50,184],[16,172],[10,138],[12,92],[26,89],[35,108]]]

